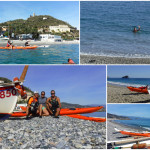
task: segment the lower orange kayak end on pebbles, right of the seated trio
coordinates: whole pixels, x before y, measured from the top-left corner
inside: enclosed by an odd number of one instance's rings
[[[77,119],[95,121],[95,122],[106,122],[106,118],[87,117],[87,116],[82,116],[80,114],[77,114],[77,115],[66,115],[66,116],[72,117],[72,118],[77,118]]]

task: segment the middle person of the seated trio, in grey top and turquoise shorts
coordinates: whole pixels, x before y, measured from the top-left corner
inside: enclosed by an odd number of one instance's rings
[[[45,92],[41,92],[41,97],[39,97],[39,115],[42,116],[49,116],[49,112],[46,109],[46,100]]]

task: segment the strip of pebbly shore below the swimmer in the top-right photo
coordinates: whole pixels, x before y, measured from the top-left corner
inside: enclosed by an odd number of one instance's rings
[[[80,54],[81,64],[150,64],[149,58],[125,58]]]

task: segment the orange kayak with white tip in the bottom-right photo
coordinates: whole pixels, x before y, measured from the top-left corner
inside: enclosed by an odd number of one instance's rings
[[[115,130],[117,132],[120,132],[121,134],[124,135],[129,135],[129,136],[146,136],[146,137],[150,137],[150,132],[131,132],[131,131],[123,131],[123,130],[118,130],[115,128]]]

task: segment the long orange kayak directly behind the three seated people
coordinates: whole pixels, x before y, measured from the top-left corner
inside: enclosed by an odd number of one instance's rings
[[[23,117],[26,116],[26,107],[20,106],[24,112],[13,112],[11,117]],[[89,108],[64,108],[61,109],[60,115],[73,115],[73,114],[84,114],[84,113],[93,113],[100,109],[102,109],[103,106],[97,106],[97,107],[89,107]]]

